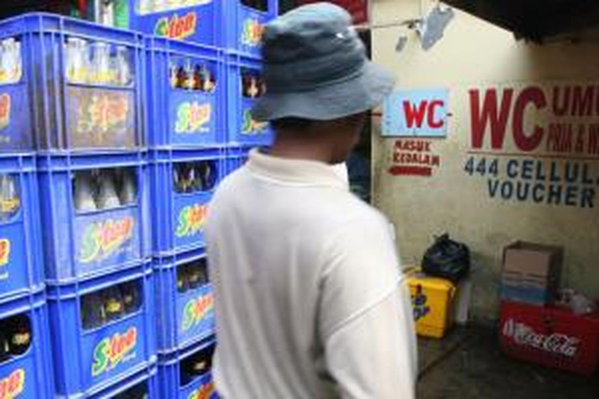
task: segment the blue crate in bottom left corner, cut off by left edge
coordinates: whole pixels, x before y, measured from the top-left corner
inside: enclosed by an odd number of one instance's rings
[[[18,320],[18,321],[17,321]],[[17,321],[17,322],[14,322]],[[29,331],[29,347],[8,359],[0,359],[0,397],[19,399],[54,398],[54,379],[48,333],[48,309],[44,291],[0,304],[0,335],[9,333],[3,323],[20,334]],[[19,328],[23,326],[25,330]],[[20,351],[19,351],[20,352]]]

